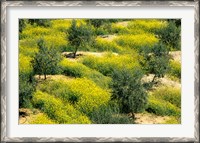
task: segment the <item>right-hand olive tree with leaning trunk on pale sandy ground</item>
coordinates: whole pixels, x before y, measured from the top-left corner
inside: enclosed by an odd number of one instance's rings
[[[155,82],[156,78],[164,77],[169,69],[169,50],[162,44],[158,43],[153,47],[144,47],[140,54],[143,59],[140,64],[146,74],[154,74],[151,83]]]

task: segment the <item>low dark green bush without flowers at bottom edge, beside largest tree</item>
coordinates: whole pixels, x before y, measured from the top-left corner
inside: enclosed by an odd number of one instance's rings
[[[120,114],[117,105],[103,105],[94,110],[90,115],[94,124],[131,124],[132,120],[126,115]]]

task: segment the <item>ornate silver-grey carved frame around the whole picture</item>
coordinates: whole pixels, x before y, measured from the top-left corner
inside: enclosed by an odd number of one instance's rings
[[[78,137],[10,138],[6,136],[6,7],[8,6],[193,6],[195,10],[195,133],[194,138]],[[199,142],[199,1],[5,1],[1,2],[1,142]]]

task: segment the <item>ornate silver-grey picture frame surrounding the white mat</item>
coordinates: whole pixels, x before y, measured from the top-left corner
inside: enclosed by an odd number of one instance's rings
[[[8,8],[15,7],[190,7],[194,10],[194,136],[193,137],[121,137],[121,136],[84,136],[84,137],[9,137],[7,134],[11,125],[8,124],[7,108],[8,100],[7,95],[11,90],[7,83],[8,75],[12,71],[8,71],[9,58],[8,53]],[[15,10],[14,10],[15,11]],[[15,114],[15,113],[13,113]],[[48,132],[48,131],[47,131]],[[199,1],[2,1],[1,2],[1,141],[2,142],[199,142]]]

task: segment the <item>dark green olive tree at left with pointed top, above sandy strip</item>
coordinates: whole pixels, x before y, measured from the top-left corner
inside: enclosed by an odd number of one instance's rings
[[[35,54],[32,61],[35,74],[44,75],[56,74],[60,67],[58,63],[61,60],[60,54],[53,48],[48,48],[43,40],[38,41],[39,51]]]

